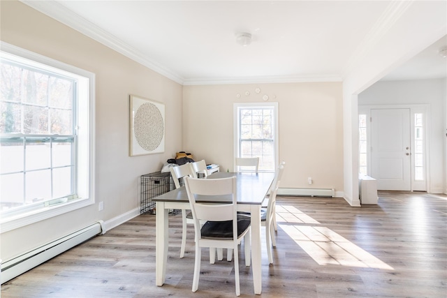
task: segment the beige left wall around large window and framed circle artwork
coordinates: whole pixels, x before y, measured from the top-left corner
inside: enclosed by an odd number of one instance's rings
[[[2,41],[96,74],[96,203],[1,233],[5,261],[98,220],[139,214],[140,175],[160,170],[181,148],[182,86],[19,1],[1,1],[0,20]],[[129,157],[129,94],[165,103],[164,154]]]

